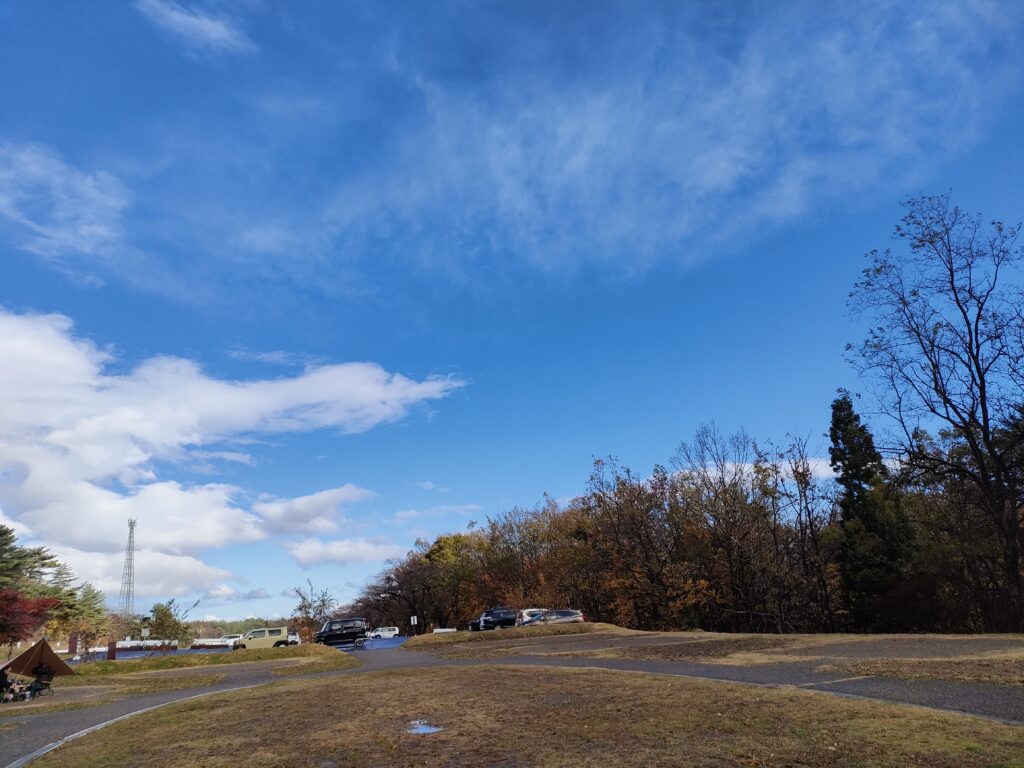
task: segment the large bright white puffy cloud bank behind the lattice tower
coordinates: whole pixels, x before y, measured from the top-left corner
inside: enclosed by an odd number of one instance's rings
[[[328,529],[340,504],[369,494],[348,484],[263,499],[253,514],[242,488],[159,476],[168,464],[187,464],[197,451],[245,462],[223,443],[256,433],[361,432],[462,385],[366,362],[262,381],[212,378],[174,357],[121,373],[108,371],[113,362],[110,350],[75,336],[68,317],[0,310],[0,509],[40,543],[83,553],[76,562],[94,556],[115,589],[129,517],[138,520],[136,546],[151,553],[150,588],[178,584],[190,567],[182,563],[195,567],[179,586],[206,588],[229,574],[197,560],[204,550],[280,528]]]

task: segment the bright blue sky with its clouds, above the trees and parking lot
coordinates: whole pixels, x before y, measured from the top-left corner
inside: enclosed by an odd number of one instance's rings
[[[353,596],[702,423],[826,455],[899,202],[1021,205],[1016,3],[0,7],[0,515]]]

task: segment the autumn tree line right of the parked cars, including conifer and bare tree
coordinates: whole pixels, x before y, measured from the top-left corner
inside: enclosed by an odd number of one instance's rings
[[[805,439],[706,426],[649,473],[599,460],[568,503],[417,542],[348,610],[421,628],[503,603],[647,630],[1024,630],[1019,228],[948,196],[905,211],[850,294],[869,396],[831,402],[830,474]]]

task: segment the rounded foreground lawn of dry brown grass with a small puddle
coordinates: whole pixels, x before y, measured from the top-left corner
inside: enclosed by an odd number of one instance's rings
[[[407,733],[413,720],[443,730]],[[604,670],[434,668],[182,702],[72,742],[39,765],[240,763],[1019,768],[1024,729],[794,689]]]

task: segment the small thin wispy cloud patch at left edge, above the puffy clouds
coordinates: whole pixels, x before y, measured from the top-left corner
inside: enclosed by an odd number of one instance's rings
[[[129,202],[110,173],[74,168],[45,146],[0,143],[0,217],[19,248],[44,260],[120,258]]]

